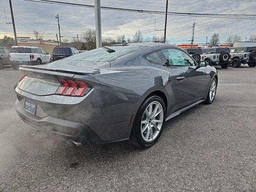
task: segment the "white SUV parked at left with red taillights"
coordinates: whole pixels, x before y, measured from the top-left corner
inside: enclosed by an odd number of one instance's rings
[[[40,65],[50,62],[51,55],[42,48],[35,46],[12,46],[9,59],[12,68],[17,70],[19,65]]]

